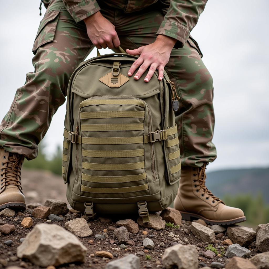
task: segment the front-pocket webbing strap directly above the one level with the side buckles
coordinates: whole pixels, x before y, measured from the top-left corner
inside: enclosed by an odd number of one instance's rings
[[[82,131],[138,131],[144,130],[144,123],[127,124],[82,124]]]

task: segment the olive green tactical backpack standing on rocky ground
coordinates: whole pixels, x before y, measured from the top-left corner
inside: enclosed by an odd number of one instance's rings
[[[70,78],[62,174],[67,200],[86,216],[138,213],[148,222],[178,189],[179,97],[166,72],[148,83],[129,77],[138,57],[120,51],[98,52]]]

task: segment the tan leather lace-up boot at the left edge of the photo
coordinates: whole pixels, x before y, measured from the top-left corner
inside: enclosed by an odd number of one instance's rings
[[[19,210],[26,208],[20,182],[23,160],[23,155],[10,153],[0,147],[0,210],[6,207]]]

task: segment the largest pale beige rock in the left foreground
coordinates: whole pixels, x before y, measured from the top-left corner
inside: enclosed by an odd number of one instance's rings
[[[75,261],[84,262],[86,247],[75,235],[56,224],[37,224],[17,247],[17,257],[46,267]]]

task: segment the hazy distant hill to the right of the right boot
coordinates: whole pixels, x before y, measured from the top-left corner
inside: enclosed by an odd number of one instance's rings
[[[263,194],[269,204],[269,168],[229,169],[207,173],[206,186],[223,198],[233,194]]]

